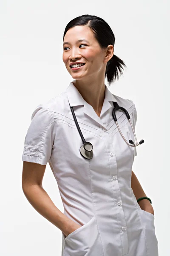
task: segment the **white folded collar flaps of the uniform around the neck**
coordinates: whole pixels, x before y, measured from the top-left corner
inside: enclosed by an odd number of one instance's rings
[[[79,105],[85,105],[85,100],[83,99],[82,95],[79,93],[77,88],[74,86],[74,83],[76,80],[73,80],[69,86],[67,87],[67,96],[68,101],[70,103],[70,106],[79,106]],[[111,91],[108,89],[108,87],[105,85],[105,101],[108,102],[117,102],[116,98],[113,96]]]

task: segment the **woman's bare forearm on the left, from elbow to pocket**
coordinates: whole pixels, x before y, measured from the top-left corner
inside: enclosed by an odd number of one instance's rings
[[[73,221],[55,206],[42,186],[38,184],[29,185],[27,188],[23,189],[23,192],[29,203],[37,212],[58,227],[64,234],[67,233]]]

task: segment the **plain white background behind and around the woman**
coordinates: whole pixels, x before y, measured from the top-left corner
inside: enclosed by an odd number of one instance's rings
[[[136,105],[136,136],[145,142],[133,172],[152,200],[159,256],[169,255],[169,7],[168,0],[0,1],[0,255],[61,255],[61,230],[23,194],[21,157],[34,108],[73,80],[62,62],[62,37],[67,23],[84,14],[111,26],[114,53],[127,65],[109,90]],[[43,187],[63,212],[49,164]]]

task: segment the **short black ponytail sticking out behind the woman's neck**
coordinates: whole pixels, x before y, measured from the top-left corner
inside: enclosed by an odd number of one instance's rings
[[[122,61],[116,55],[113,55],[110,61],[108,61],[108,64],[106,66],[106,72],[105,72],[105,77],[107,77],[109,86],[116,79],[117,80],[119,79],[119,75],[123,74],[122,71],[124,70],[124,67],[126,67],[124,61]]]

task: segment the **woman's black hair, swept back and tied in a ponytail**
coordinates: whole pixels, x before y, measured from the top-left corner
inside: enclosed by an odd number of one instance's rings
[[[115,36],[108,23],[100,17],[95,15],[82,15],[71,20],[65,27],[63,40],[68,29],[74,26],[88,26],[94,33],[94,37],[98,41],[100,47],[105,49],[109,44],[114,47]],[[124,61],[113,54],[113,57],[108,61],[105,71],[105,77],[107,77],[109,86],[116,79],[119,79],[119,73],[122,75],[122,70],[126,67]]]

